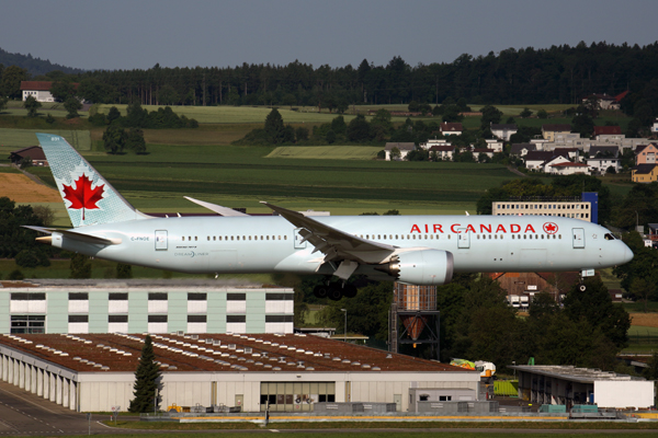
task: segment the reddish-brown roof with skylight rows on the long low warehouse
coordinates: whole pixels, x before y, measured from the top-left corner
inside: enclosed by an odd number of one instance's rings
[[[4,334],[0,345],[78,372],[135,371],[146,334]],[[457,371],[432,360],[303,334],[154,334],[163,371]]]

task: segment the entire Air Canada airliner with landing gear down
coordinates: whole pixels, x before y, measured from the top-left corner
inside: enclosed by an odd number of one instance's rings
[[[603,227],[552,216],[311,216],[262,203],[249,216],[186,197],[219,216],[156,218],[135,209],[63,137],[37,134],[72,229],[27,227],[37,240],[126,264],[205,274],[326,277],[315,293],[353,297],[348,279],[439,286],[453,273],[579,270],[633,252]]]

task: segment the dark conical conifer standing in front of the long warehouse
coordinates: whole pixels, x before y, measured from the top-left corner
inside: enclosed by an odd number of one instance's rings
[[[146,413],[154,412],[159,401],[156,399],[157,390],[160,385],[160,366],[156,364],[156,354],[154,353],[154,343],[150,335],[144,339],[139,365],[135,371],[134,399],[131,401],[129,412]]]

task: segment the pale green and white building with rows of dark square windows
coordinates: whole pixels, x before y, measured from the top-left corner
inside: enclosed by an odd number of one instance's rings
[[[0,333],[293,333],[293,289],[188,280],[4,281]],[[219,286],[218,286],[219,285]]]

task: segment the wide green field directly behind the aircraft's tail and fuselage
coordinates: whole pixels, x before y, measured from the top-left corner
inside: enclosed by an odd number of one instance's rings
[[[184,200],[186,195],[252,212],[269,212],[259,204],[269,200],[332,215],[389,209],[463,215],[475,212],[475,203],[486,188],[518,177],[496,164],[265,158],[273,150],[150,145],[146,155],[86,155],[146,212],[204,211]],[[54,185],[48,169],[31,171]]]

